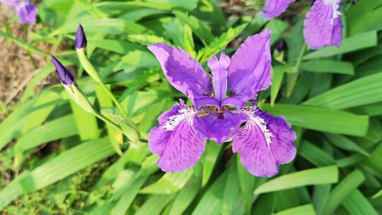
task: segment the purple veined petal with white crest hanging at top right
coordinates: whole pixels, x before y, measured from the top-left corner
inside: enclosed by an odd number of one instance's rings
[[[340,47],[342,42],[342,21],[340,4],[342,0],[317,0],[306,13],[303,22],[303,37],[312,50],[326,45]]]

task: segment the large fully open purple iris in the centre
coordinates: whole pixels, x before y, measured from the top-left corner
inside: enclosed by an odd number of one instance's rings
[[[276,175],[279,164],[294,159],[296,134],[284,117],[262,112],[256,103],[245,106],[271,84],[270,30],[248,37],[231,59],[223,53],[209,59],[212,76],[178,47],[157,43],[149,50],[170,84],[193,103],[180,100],[149,132],[149,149],[160,156],[157,165],[163,171],[191,168],[207,139],[232,140],[233,152],[257,176]]]

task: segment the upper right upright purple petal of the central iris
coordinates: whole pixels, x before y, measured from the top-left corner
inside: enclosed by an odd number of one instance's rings
[[[270,30],[248,37],[238,48],[228,67],[228,88],[247,102],[266,90],[272,77],[270,71]]]

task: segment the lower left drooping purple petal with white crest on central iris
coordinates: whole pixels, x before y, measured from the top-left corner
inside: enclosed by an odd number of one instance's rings
[[[149,133],[149,149],[161,156],[157,165],[165,172],[191,168],[204,151],[205,138],[194,127],[196,110],[174,105],[158,118],[160,124]]]

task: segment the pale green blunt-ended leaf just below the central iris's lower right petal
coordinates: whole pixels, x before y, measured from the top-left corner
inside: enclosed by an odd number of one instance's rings
[[[257,187],[255,194],[287,190],[307,185],[325,185],[338,181],[338,169],[335,165],[301,170],[274,178]]]

